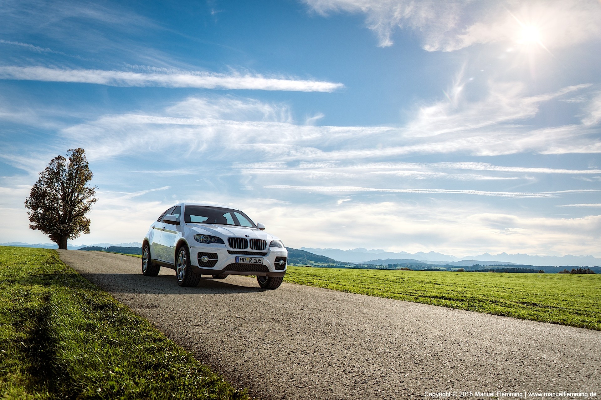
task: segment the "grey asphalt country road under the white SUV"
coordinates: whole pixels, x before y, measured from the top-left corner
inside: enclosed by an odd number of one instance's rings
[[[404,399],[462,390],[601,397],[599,331],[287,283],[264,291],[246,276],[181,288],[173,270],[143,276],[139,258],[59,254],[258,398]]]

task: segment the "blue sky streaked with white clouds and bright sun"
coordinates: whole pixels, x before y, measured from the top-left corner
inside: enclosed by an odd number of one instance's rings
[[[601,256],[599,1],[0,3],[0,242],[82,147],[74,243],[178,201],[292,247]]]

